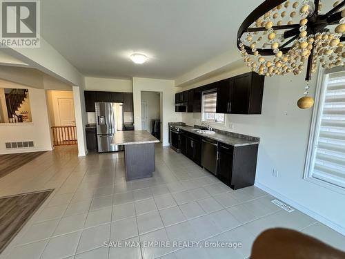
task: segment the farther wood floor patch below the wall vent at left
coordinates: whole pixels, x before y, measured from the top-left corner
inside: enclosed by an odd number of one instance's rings
[[[0,178],[8,175],[12,171],[19,169],[24,164],[34,160],[46,152],[30,152],[30,153],[18,153],[0,155]]]

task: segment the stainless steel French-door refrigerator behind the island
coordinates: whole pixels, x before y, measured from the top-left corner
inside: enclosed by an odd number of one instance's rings
[[[114,134],[124,130],[123,105],[117,102],[95,103],[99,153],[124,150],[124,146],[111,145]]]

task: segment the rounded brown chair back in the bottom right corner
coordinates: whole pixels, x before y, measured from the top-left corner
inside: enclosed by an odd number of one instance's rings
[[[345,253],[291,229],[268,229],[255,240],[250,259],[276,258],[344,259]]]

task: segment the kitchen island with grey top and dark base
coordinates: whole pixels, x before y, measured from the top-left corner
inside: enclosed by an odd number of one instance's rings
[[[152,177],[155,171],[155,143],[148,131],[117,131],[112,145],[125,147],[126,180]]]

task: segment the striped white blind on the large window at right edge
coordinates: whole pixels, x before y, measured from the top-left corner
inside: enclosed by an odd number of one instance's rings
[[[311,177],[345,188],[345,73],[329,74],[321,93]]]

